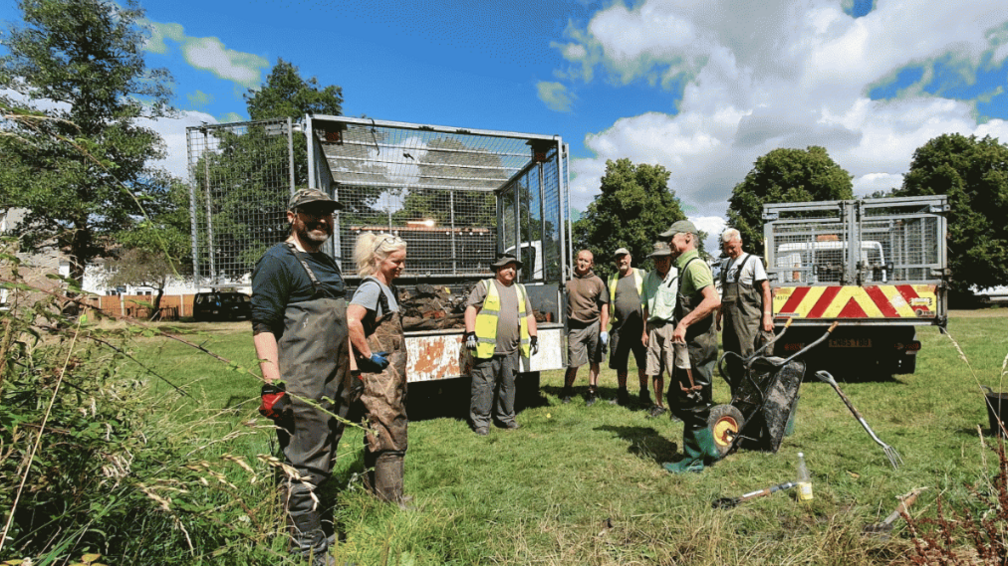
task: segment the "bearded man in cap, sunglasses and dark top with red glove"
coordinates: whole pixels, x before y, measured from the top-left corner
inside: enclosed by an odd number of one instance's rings
[[[335,563],[322,521],[333,502],[319,496],[343,434],[334,415],[346,417],[351,395],[346,286],[321,251],[341,207],[321,190],[295,192],[287,205],[289,237],[252,272],[252,339],[265,381],[259,411],[273,419],[284,462],[296,472],[281,481],[290,550],[312,566]]]

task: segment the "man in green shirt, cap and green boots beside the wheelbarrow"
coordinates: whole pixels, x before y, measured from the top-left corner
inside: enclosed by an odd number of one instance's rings
[[[691,371],[676,368],[668,387],[672,414],[682,419],[684,457],[664,467],[673,473],[702,471],[705,464],[721,457],[707,425],[711,415],[711,378],[718,360],[714,314],[721,299],[714,287],[711,268],[697,251],[700,239],[697,227],[689,221],[678,221],[660,236],[670,239],[668,245],[679,273],[672,340],[686,343],[691,368]]]

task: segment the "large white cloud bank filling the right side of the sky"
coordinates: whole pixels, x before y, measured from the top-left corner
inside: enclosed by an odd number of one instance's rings
[[[732,187],[778,147],[826,147],[865,194],[899,186],[913,151],[937,135],[1008,140],[1003,121],[978,124],[975,101],[921,89],[938,62],[969,84],[981,65],[1008,57],[1006,3],[890,0],[852,18],[835,0],[645,0],[616,3],[565,35],[554,47],[591,65],[572,78],[591,81],[594,70],[614,85],[663,88],[684,80],[677,114],[621,118],[586,137],[595,156],[571,163],[581,209],[607,159],[665,166],[687,215],[721,218]],[[868,98],[909,65],[924,69],[916,86],[895,100]]]

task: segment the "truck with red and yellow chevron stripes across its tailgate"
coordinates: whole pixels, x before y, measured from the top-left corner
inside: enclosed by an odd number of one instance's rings
[[[764,257],[787,356],[839,322],[806,355],[817,368],[912,374],[916,328],[948,321],[947,197],[763,205]]]

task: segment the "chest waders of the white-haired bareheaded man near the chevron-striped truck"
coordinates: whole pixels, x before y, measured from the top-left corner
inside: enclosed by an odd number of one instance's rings
[[[722,342],[725,351],[734,351],[742,358],[749,358],[756,351],[756,338],[759,336],[763,316],[762,293],[753,285],[742,283],[740,277],[746,262],[755,257],[747,254],[745,258],[735,264],[738,271],[734,283],[728,282],[729,269],[724,270],[721,274],[721,312],[725,328],[722,333]],[[731,268],[731,264],[728,267]],[[742,360],[729,356],[727,363],[728,384],[732,388],[734,396],[737,384],[742,377]]]

